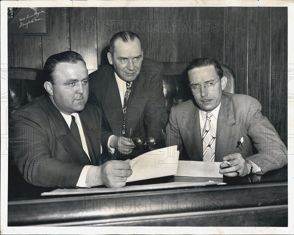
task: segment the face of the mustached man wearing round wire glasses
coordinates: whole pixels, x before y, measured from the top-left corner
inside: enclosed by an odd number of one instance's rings
[[[188,78],[190,86],[201,86],[199,93],[193,93],[195,101],[199,107],[206,112],[215,109],[220,103],[220,98],[222,91],[225,89],[227,78],[223,77],[221,81],[218,81],[219,77],[213,65],[191,69],[188,72]],[[211,82],[216,82],[214,89],[212,91],[207,91],[203,85]]]

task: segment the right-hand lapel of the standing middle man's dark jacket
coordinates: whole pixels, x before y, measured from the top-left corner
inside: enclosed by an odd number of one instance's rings
[[[149,83],[142,72],[133,81],[126,110],[126,136],[131,135],[141,118],[149,95]]]

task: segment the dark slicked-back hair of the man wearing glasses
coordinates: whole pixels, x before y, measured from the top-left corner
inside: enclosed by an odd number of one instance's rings
[[[210,66],[213,65],[214,69],[216,70],[216,73],[218,75],[218,77],[220,79],[222,79],[223,77],[223,69],[220,66],[220,63],[218,63],[218,61],[216,59],[213,58],[197,58],[197,59],[193,59],[187,66],[186,68],[186,73],[188,74],[188,72],[191,69],[194,68],[201,68],[201,67],[205,67],[205,66]]]

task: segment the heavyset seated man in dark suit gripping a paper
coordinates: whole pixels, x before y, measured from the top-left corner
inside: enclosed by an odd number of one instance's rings
[[[52,55],[43,72],[48,94],[11,117],[9,148],[24,179],[56,188],[124,186],[132,173],[128,161],[101,165],[101,112],[86,103],[89,78],[81,55]]]

